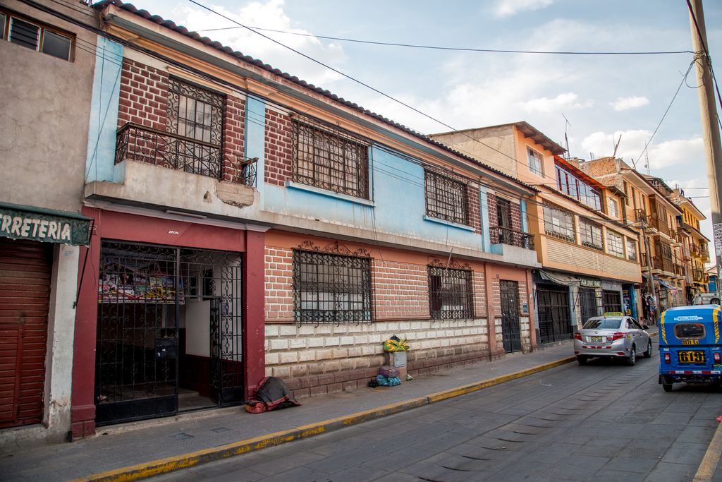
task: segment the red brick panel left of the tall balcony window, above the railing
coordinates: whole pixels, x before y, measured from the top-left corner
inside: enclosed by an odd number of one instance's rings
[[[118,126],[134,122],[165,131],[168,72],[123,59]]]

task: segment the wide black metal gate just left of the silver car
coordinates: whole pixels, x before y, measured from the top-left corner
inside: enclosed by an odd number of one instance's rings
[[[567,340],[572,337],[568,288],[539,285],[536,288],[536,304],[539,311],[541,343]]]

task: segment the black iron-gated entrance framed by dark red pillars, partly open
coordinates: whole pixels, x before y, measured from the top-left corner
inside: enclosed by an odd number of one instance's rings
[[[238,253],[103,242],[96,425],[243,400]]]

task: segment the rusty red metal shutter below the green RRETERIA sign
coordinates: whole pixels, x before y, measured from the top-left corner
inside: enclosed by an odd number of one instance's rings
[[[53,245],[0,238],[0,428],[40,423]]]

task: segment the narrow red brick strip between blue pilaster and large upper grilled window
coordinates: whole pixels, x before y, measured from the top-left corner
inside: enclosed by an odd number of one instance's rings
[[[266,109],[266,183],[283,186],[291,178],[291,119]]]

